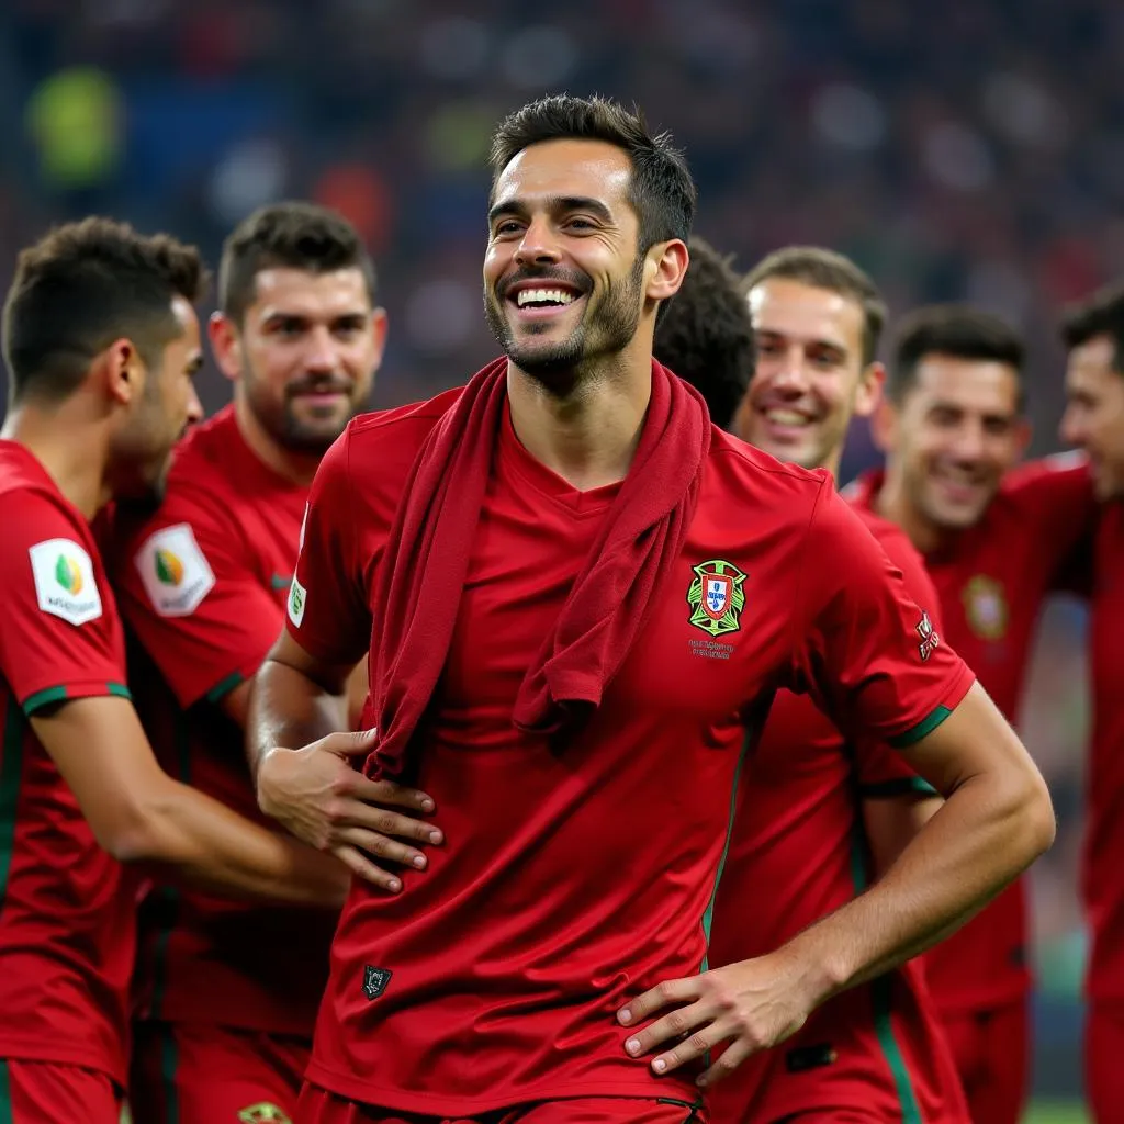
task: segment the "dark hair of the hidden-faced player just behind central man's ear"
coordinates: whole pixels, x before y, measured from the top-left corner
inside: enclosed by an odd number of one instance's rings
[[[753,378],[753,324],[732,256],[698,237],[689,246],[690,268],[667,301],[653,352],[706,399],[710,420],[725,429]]]

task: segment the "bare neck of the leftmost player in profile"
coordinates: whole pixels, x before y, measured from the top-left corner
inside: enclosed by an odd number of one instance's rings
[[[85,415],[81,393],[58,407],[33,402],[13,407],[0,437],[22,445],[85,519],[112,498],[108,434],[105,425]]]

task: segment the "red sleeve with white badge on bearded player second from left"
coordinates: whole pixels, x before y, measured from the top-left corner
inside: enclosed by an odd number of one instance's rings
[[[182,707],[250,679],[281,634],[283,610],[256,573],[229,511],[181,486],[115,552],[121,614]]]

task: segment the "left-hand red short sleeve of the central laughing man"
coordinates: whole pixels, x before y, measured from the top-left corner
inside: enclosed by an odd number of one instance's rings
[[[371,610],[356,541],[348,427],[317,469],[300,534],[300,556],[289,589],[285,625],[310,655],[325,663],[356,663],[371,640]]]

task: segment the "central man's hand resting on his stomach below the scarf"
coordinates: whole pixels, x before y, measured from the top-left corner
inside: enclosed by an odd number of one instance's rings
[[[439,844],[444,836],[432,824],[390,810],[430,815],[436,806],[425,792],[370,780],[352,768],[350,759],[365,758],[373,746],[373,729],[329,734],[299,750],[274,746],[259,767],[257,805],[298,839],[334,854],[352,873],[397,894],[401,879],[370,856],[425,870],[426,856],[398,840]]]

